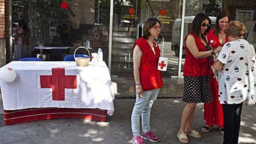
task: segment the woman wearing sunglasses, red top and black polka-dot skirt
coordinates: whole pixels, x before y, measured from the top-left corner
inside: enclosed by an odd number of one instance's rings
[[[198,13],[192,22],[192,31],[185,37],[186,59],[184,63],[184,94],[186,106],[182,112],[177,137],[182,143],[189,143],[187,135],[201,138],[192,128],[195,106],[198,102],[212,101],[209,84],[208,57],[217,54],[220,48],[208,50],[206,33],[210,30],[211,19],[204,13]]]

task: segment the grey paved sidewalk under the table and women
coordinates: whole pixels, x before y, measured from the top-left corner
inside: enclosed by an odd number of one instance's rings
[[[134,102],[135,99],[115,99],[115,112],[108,122],[59,119],[2,126],[0,144],[128,144]],[[161,138],[159,144],[179,144],[176,133],[184,105],[181,99],[157,99],[153,105],[151,128]],[[256,144],[255,110],[256,107],[243,107],[240,144]],[[203,124],[203,105],[198,104],[194,129],[200,131]],[[217,129],[202,133],[201,139],[189,137],[191,144],[221,144],[222,139],[223,135]]]

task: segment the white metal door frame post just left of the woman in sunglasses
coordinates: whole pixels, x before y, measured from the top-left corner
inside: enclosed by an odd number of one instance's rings
[[[183,2],[182,2],[182,19],[181,19],[180,43],[179,43],[179,69],[178,69],[178,78],[182,78],[182,77],[183,77],[183,72],[181,72],[181,65],[182,65],[182,49],[183,49],[183,34],[184,34],[185,8],[186,8],[186,0],[183,0]]]

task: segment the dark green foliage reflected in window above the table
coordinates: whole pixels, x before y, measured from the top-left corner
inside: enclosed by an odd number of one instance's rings
[[[25,0],[28,5],[28,25],[31,30],[31,38],[38,45],[46,45],[54,40],[61,45],[62,34],[69,32],[69,16],[74,17],[70,8],[61,8],[63,0]],[[72,2],[72,0],[68,0]],[[56,26],[57,38],[49,36],[49,27]]]

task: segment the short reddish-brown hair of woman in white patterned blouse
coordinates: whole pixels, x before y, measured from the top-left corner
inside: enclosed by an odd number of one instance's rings
[[[233,38],[245,37],[246,36],[246,27],[242,22],[231,21],[227,25],[226,34],[232,36]]]

